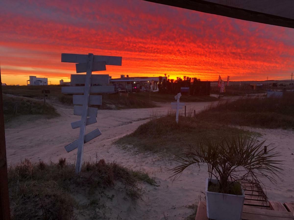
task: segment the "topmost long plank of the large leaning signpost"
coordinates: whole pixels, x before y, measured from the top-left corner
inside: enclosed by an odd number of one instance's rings
[[[121,66],[122,57],[94,55],[93,60],[94,60],[94,62],[105,61],[106,65]],[[88,62],[88,55],[74,54],[74,53],[62,53],[61,54],[61,62],[86,63],[86,62]]]

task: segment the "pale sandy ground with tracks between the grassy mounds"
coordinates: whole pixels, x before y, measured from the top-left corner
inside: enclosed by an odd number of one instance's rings
[[[192,107],[200,111],[209,102],[188,103],[187,109]],[[70,123],[80,120],[80,116],[73,115],[72,106],[54,104],[61,117],[54,119],[38,118],[27,121],[20,118],[7,126],[6,148],[8,163],[18,163],[21,159],[31,161],[39,159],[57,161],[60,157],[68,161],[75,161],[76,150],[67,153],[64,146],[78,138],[79,129],[72,129]],[[176,181],[170,178],[170,169],[177,164],[171,158],[153,153],[137,153],[123,150],[113,144],[113,141],[134,131],[139,125],[145,123],[151,114],[165,114],[170,110],[170,104],[161,104],[161,107],[152,109],[125,109],[125,110],[98,110],[98,123],[87,126],[87,132],[99,128],[102,135],[88,142],[84,146],[83,160],[96,160],[104,158],[108,162],[116,161],[121,165],[134,170],[148,172],[154,177],[158,187],[142,185],[146,191],[141,200],[130,207],[124,207],[123,199],[118,199],[113,207],[113,219],[120,216],[122,219],[184,219],[192,213],[187,205],[204,200],[206,166],[191,167]],[[267,139],[265,145],[277,148],[281,152],[281,165],[284,169],[277,185],[264,181],[270,200],[281,202],[294,201],[294,153],[293,131],[281,129],[252,129]],[[118,195],[119,196],[119,195]],[[121,202],[119,202],[121,201]],[[112,219],[112,218],[111,218]]]

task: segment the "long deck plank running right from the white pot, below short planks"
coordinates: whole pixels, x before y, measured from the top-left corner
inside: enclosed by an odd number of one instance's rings
[[[257,207],[243,206],[243,213],[259,214],[264,216],[275,216],[282,218],[293,218],[293,214],[285,211],[274,211],[270,209],[260,209]],[[287,220],[287,219],[284,219]]]

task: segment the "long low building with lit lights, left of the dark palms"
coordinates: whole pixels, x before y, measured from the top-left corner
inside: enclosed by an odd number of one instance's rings
[[[164,78],[164,77],[163,77]],[[159,77],[125,77],[110,79],[109,83],[115,86],[117,91],[126,90],[126,92],[156,92],[158,91]]]

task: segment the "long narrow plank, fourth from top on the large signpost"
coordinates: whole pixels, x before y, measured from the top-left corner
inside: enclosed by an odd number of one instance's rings
[[[84,86],[61,87],[64,94],[80,94],[85,92]],[[91,86],[90,93],[113,93],[114,86]]]

